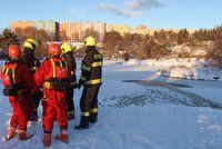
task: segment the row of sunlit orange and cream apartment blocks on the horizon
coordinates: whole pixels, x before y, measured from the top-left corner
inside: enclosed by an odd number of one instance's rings
[[[34,27],[37,29],[43,29],[51,37],[51,40],[82,42],[87,36],[93,36],[98,42],[101,42],[105,32],[117,31],[121,36],[125,33],[139,33],[139,34],[154,34],[161,30],[172,30],[179,32],[180,29],[151,29],[144,24],[137,28],[131,28],[127,24],[105,24],[100,21],[92,22],[57,22],[57,21],[13,21],[10,24],[12,31],[17,28]],[[193,33],[194,29],[186,29],[190,33]]]

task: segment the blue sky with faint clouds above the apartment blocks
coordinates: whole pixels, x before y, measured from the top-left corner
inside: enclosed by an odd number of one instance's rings
[[[4,0],[0,29],[16,20],[104,21],[151,28],[214,28],[222,0]]]

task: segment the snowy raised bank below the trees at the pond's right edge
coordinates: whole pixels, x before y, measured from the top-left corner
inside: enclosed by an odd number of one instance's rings
[[[150,63],[148,61],[148,63]],[[165,77],[192,79],[192,80],[219,80],[222,81],[222,70],[212,67],[211,61],[196,59],[163,59],[153,61],[160,67]]]

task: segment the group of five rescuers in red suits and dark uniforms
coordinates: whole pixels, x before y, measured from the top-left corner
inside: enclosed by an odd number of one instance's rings
[[[53,122],[58,121],[60,133],[56,139],[69,142],[68,120],[74,119],[73,90],[83,86],[80,99],[81,119],[75,129],[88,129],[89,122],[98,120],[98,92],[102,83],[102,54],[97,50],[97,41],[88,37],[84,41],[85,56],[81,64],[79,81],[75,77],[75,59],[69,42],[51,43],[48,58],[40,62],[34,57],[39,43],[27,39],[23,49],[11,44],[8,60],[1,69],[3,95],[9,97],[12,116],[7,140],[17,132],[19,140],[30,139],[28,121],[38,121],[38,107],[42,100],[42,127],[46,147],[51,146]]]

